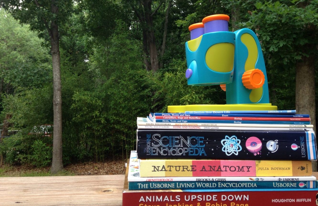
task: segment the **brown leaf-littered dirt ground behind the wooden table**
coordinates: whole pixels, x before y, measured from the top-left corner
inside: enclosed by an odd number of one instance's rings
[[[125,174],[126,160],[109,160],[107,162],[85,162],[69,164],[65,169],[65,174],[71,175],[106,175],[106,174]],[[5,176],[20,176],[20,174],[48,173],[50,167],[36,168],[31,165],[2,166]],[[62,174],[63,175],[63,174]]]

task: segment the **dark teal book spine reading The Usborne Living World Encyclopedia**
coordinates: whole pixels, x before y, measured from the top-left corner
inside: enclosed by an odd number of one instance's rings
[[[129,182],[130,190],[151,189],[296,189],[316,188],[316,181],[162,181]]]

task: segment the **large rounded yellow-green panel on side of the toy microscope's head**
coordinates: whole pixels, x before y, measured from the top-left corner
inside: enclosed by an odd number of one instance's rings
[[[234,44],[219,43],[211,46],[205,54],[205,62],[213,71],[232,71],[234,65]]]

